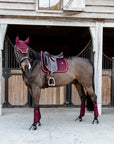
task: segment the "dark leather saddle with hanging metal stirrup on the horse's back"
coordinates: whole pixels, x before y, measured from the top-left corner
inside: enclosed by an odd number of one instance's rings
[[[53,77],[53,72],[57,72],[58,70],[57,59],[62,58],[63,58],[63,52],[60,53],[59,55],[52,55],[47,51],[43,53],[44,65],[50,71],[50,77],[48,79],[49,86],[55,86],[55,79]]]

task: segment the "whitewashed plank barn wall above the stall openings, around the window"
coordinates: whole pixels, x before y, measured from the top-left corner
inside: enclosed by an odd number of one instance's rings
[[[69,10],[63,7],[63,10],[58,12],[36,10],[36,0],[0,1],[0,24],[86,26],[96,30],[98,24],[102,25],[102,27],[114,27],[113,22],[113,0],[96,0],[94,2],[93,0],[85,0],[85,7],[81,10],[72,9],[72,7]],[[99,44],[97,33],[94,32],[95,44]],[[101,82],[101,78],[98,79],[99,81]],[[99,97],[101,98],[101,96]]]

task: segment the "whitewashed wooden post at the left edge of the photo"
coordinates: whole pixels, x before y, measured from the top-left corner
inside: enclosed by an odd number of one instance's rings
[[[2,115],[2,50],[7,24],[0,24],[0,116]]]

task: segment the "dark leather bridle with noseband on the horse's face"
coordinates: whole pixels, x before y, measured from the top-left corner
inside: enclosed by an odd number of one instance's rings
[[[24,57],[22,57],[21,59],[19,58],[19,54],[18,54],[18,49],[17,49],[17,47],[16,47],[16,45],[14,46],[14,51],[15,51],[15,54],[16,54],[16,58],[17,58],[17,60],[18,60],[18,62],[19,62],[19,67],[22,69],[22,65],[21,65],[21,63],[24,61],[24,60],[26,60],[26,59],[28,59],[28,61],[30,60],[30,58],[28,57],[28,56],[24,56]],[[29,62],[30,63],[30,62]]]

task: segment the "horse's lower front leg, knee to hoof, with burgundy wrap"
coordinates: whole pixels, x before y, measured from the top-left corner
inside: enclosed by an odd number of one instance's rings
[[[34,99],[34,118],[33,118],[33,124],[29,128],[30,130],[36,130],[37,126],[40,126],[40,119],[41,119],[41,113],[40,113],[40,107],[39,107],[39,99],[40,99],[40,88],[33,88],[32,89],[32,97]]]

